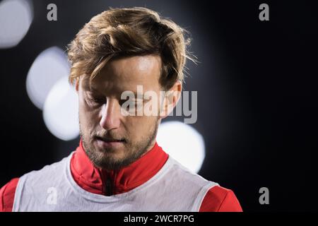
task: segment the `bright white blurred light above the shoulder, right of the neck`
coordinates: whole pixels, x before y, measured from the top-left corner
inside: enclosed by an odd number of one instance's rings
[[[192,172],[199,172],[204,161],[204,138],[192,126],[179,121],[160,124],[157,142],[165,152]]]

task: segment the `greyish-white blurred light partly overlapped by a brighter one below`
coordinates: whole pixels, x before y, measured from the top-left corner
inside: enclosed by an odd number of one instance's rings
[[[26,90],[35,106],[43,109],[49,90],[62,77],[69,76],[69,62],[59,47],[41,52],[33,62],[26,80]]]

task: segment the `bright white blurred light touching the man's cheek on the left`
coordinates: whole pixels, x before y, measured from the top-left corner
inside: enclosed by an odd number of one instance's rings
[[[49,91],[43,108],[43,119],[47,129],[64,141],[79,135],[78,97],[68,78],[60,78]]]

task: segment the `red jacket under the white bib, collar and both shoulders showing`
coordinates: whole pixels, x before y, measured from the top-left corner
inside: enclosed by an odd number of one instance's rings
[[[82,142],[71,156],[71,176],[82,189],[91,194],[112,196],[123,194],[144,184],[165,165],[167,153],[155,143],[153,148],[131,165],[106,172],[95,167],[83,150]],[[146,170],[145,170],[146,169]],[[0,211],[11,212],[15,201],[18,178],[11,179],[0,189]],[[201,202],[200,212],[241,212],[242,208],[233,191],[222,186],[209,189]]]

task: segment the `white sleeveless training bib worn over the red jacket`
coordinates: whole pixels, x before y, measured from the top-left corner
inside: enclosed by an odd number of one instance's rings
[[[218,185],[169,156],[157,174],[131,191],[92,194],[74,181],[72,155],[20,177],[13,211],[199,211],[206,192]]]

